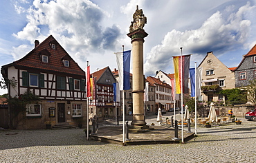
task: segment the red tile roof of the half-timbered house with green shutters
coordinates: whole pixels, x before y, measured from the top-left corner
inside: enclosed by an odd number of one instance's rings
[[[50,43],[55,43],[56,48],[52,49]],[[49,52],[51,55],[48,57],[48,63],[43,63],[42,59],[40,58],[40,52]],[[65,67],[62,63],[62,58],[70,58],[69,60],[69,67]],[[12,66],[15,67],[26,67],[30,69],[42,69],[45,71],[53,71],[53,72],[63,72],[68,74],[75,74],[84,76],[84,71],[75,63],[75,61],[69,56],[69,54],[64,50],[64,48],[58,43],[54,37],[48,36],[42,43],[37,45],[31,52],[26,54],[23,58],[15,61],[11,64],[5,66]]]

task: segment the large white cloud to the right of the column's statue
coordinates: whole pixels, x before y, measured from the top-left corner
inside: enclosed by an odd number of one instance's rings
[[[236,12],[230,6],[226,8],[230,15],[228,18],[217,11],[196,30],[168,32],[161,44],[152,47],[147,54],[145,74],[154,74],[156,70],[167,69],[166,67],[172,70],[172,56],[180,54],[180,47],[188,53],[196,54],[192,58],[202,58],[209,51],[225,53],[227,50],[236,49],[238,45],[243,46],[251,30],[251,22],[244,15],[252,10],[255,10],[255,6],[250,6],[250,3]]]

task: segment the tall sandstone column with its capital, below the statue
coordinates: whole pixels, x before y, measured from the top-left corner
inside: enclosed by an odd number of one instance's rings
[[[127,34],[132,44],[132,95],[133,120],[131,125],[146,127],[144,116],[144,75],[143,75],[143,43],[148,34],[141,28]]]

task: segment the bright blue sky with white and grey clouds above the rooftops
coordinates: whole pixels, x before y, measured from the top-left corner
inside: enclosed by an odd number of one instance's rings
[[[256,44],[256,0],[1,0],[0,65],[24,57],[53,35],[73,60],[91,72],[117,68],[115,52],[131,50],[127,36],[138,5],[147,17],[144,74],[174,73],[172,56],[192,54],[190,67],[213,52],[237,67]],[[132,58],[131,58],[132,61]],[[131,67],[132,72],[132,67]],[[0,94],[6,94],[0,89]]]

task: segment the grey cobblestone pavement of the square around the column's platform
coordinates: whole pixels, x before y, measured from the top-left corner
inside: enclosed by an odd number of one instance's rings
[[[256,162],[256,122],[198,128],[185,144],[121,146],[82,129],[0,130],[0,162]]]

